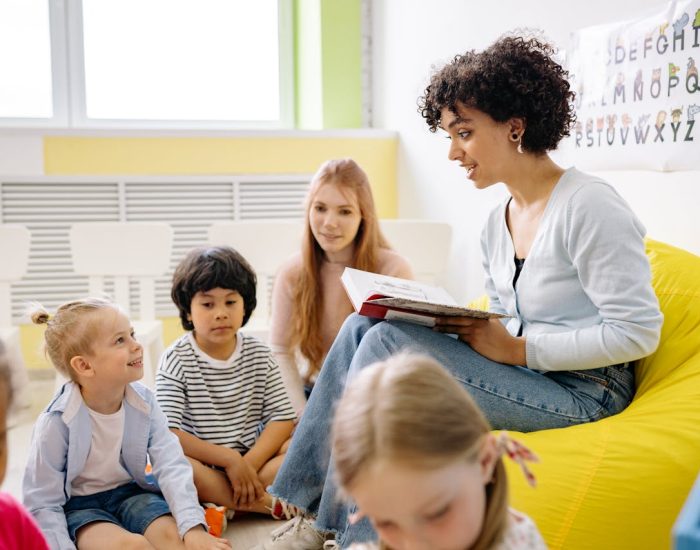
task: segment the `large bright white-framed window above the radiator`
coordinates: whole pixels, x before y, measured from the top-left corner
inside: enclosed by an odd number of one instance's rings
[[[0,6],[2,125],[292,126],[291,0]]]

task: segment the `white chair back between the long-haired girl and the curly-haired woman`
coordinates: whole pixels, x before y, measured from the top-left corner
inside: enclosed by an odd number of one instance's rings
[[[416,280],[434,284],[445,272],[452,242],[452,226],[428,220],[380,220],[382,233],[406,258]]]

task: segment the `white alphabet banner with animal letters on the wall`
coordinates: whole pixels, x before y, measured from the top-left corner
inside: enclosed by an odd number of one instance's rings
[[[585,169],[700,169],[700,0],[572,36],[577,122],[564,144]]]

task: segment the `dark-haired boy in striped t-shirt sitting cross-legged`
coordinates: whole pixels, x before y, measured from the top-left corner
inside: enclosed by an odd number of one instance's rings
[[[182,260],[171,296],[188,332],[161,357],[156,393],[201,501],[289,519],[265,487],[296,414],[270,349],[239,332],[255,309],[255,286],[255,272],[230,247],[197,248]]]

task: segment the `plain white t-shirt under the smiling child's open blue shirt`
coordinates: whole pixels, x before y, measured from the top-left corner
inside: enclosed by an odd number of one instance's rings
[[[124,405],[113,414],[87,407],[92,421],[92,440],[85,467],[71,484],[73,496],[109,491],[133,480],[121,460],[124,439]]]

